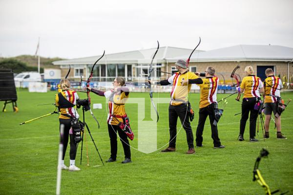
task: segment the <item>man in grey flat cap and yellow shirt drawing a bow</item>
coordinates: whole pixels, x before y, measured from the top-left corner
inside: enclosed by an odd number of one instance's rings
[[[193,145],[193,134],[192,129],[189,122],[189,117],[187,113],[187,105],[188,105],[188,93],[191,88],[191,83],[185,83],[184,86],[181,86],[181,83],[184,80],[195,79],[195,84],[203,83],[202,79],[196,76],[192,72],[188,72],[188,68],[186,62],[182,59],[179,59],[176,63],[176,72],[172,77],[161,80],[156,84],[160,85],[170,85],[172,84],[171,90],[171,100],[169,104],[169,146],[162,150],[162,152],[174,152],[176,148],[176,136],[177,136],[177,119],[180,118],[181,124],[186,131],[186,138],[188,143],[188,151],[187,154],[195,153],[194,145]]]

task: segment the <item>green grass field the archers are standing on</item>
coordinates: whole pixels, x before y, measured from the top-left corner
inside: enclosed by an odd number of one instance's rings
[[[18,90],[19,112],[13,113],[8,105],[6,112],[0,112],[0,194],[1,195],[46,195],[55,194],[57,176],[57,158],[59,145],[58,115],[50,115],[19,125],[23,121],[39,117],[54,110],[53,105],[37,106],[38,104],[54,103],[55,92],[28,93]],[[293,93],[281,94],[287,101],[293,98]],[[85,94],[79,94],[86,98]],[[218,95],[218,99],[226,97]],[[132,93],[130,97],[143,98],[147,105],[146,118],[150,120],[150,99],[148,93]],[[168,98],[169,94],[156,94],[154,98]],[[110,156],[110,143],[106,125],[105,98],[91,94],[93,103],[102,103],[103,110],[93,110],[95,117],[101,121],[101,128],[89,112],[85,113],[85,120],[97,144],[103,160]],[[260,162],[261,173],[271,190],[281,189],[293,194],[293,104],[289,104],[282,114],[282,133],[288,139],[277,140],[274,124],[271,122],[271,138],[256,143],[249,142],[249,123],[245,131],[243,142],[237,140],[239,134],[241,103],[228,99],[224,116],[218,125],[219,137],[225,149],[213,149],[210,126],[207,120],[204,130],[202,148],[196,148],[194,155],[186,155],[188,150],[186,134],[181,130],[177,136],[176,152],[161,153],[160,150],[150,154],[131,149],[133,163],[121,164],[124,160],[123,148],[118,140],[117,161],[102,162],[86,132],[84,141],[83,162],[80,165],[81,145],[78,148],[76,165],[80,172],[62,172],[61,194],[97,195],[264,195],[261,186],[252,182],[252,170],[256,157],[262,148],[266,148],[270,155]],[[194,140],[198,121],[199,94],[192,94],[192,107],[195,119],[191,122]],[[220,104],[221,105],[221,104]],[[132,130],[137,135],[137,105],[126,104],[126,112],[130,118]],[[168,142],[168,104],[158,106],[160,120],[157,130],[157,148]],[[82,116],[82,110],[79,110]],[[180,121],[178,121],[180,124]],[[178,129],[181,126],[178,126]],[[149,127],[152,128],[152,127]],[[260,126],[259,126],[260,128]],[[260,135],[256,138],[261,139]],[[88,148],[89,165],[86,159]],[[138,140],[130,142],[134,148]],[[165,148],[165,147],[164,147]],[[69,145],[65,156],[65,164],[69,164]]]

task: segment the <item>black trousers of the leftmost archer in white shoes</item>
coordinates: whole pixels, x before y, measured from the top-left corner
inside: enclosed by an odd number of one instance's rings
[[[66,148],[68,145],[68,137],[70,138],[70,160],[75,160],[76,157],[76,151],[77,151],[77,143],[74,141],[74,135],[69,135],[69,130],[71,128],[71,119],[62,119],[59,118],[60,125],[64,125],[64,134],[63,134],[63,156],[62,159],[64,160]]]

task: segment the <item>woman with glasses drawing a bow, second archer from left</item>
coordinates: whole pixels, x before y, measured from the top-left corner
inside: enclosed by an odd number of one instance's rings
[[[110,137],[111,156],[106,162],[114,162],[117,157],[117,132],[119,134],[123,149],[125,160],[122,163],[129,163],[131,161],[130,145],[126,133],[119,127],[120,124],[125,123],[124,118],[127,117],[125,112],[125,103],[129,97],[129,90],[125,85],[125,79],[117,77],[113,81],[114,89],[110,91],[100,91],[88,87],[88,89],[99,95],[109,98],[109,114],[108,114],[108,132]],[[130,130],[131,131],[131,130]],[[131,132],[132,133],[132,132]],[[133,136],[133,133],[132,133]],[[132,137],[133,139],[133,137]]]

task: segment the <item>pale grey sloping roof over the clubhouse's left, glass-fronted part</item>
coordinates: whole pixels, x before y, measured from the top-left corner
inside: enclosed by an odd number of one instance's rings
[[[98,62],[103,63],[150,63],[150,60],[157,48],[143,49],[129,52],[121,52],[114,54],[105,54],[105,56]],[[189,55],[192,49],[178,48],[178,47],[160,47],[155,57],[156,62],[162,62],[167,58],[176,58],[177,56]],[[198,52],[195,51],[193,55]],[[102,53],[102,51],[101,51]],[[100,56],[79,58],[79,59],[68,59],[53,61],[54,65],[73,65],[73,64],[93,64]]]

